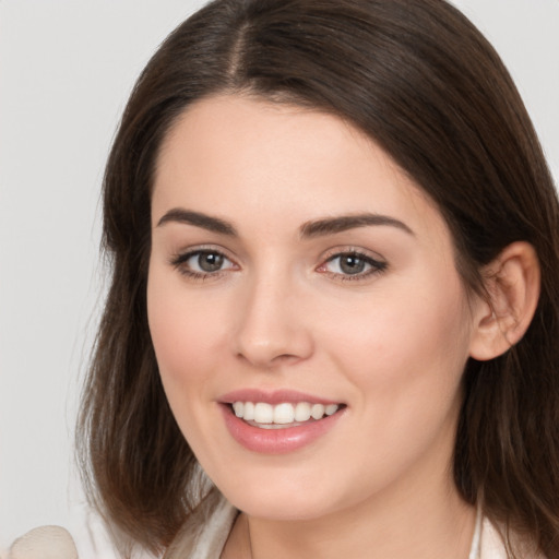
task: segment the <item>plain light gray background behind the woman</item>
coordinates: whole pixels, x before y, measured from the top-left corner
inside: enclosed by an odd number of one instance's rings
[[[98,195],[135,76],[203,0],[0,0],[0,550],[91,544],[72,431],[103,292]],[[559,177],[559,0],[455,2],[497,47]],[[90,519],[91,520],[91,519]]]

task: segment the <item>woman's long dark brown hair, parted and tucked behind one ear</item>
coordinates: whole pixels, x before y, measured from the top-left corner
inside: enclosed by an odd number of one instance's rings
[[[145,290],[158,148],[189,104],[216,93],[314,107],[373,138],[437,202],[477,293],[506,246],[535,247],[542,294],[527,333],[466,365],[454,478],[466,501],[483,492],[490,519],[559,557],[558,202],[501,60],[443,0],[217,0],[143,71],[106,168],[112,276],[79,431],[106,519],[157,551],[203,498],[159,381]]]

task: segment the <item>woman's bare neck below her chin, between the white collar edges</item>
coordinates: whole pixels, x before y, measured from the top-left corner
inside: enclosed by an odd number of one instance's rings
[[[452,480],[439,490],[377,496],[313,520],[277,521],[241,513],[223,558],[467,559],[475,508]]]

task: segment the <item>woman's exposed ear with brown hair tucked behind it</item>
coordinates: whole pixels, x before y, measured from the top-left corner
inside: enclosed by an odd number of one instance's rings
[[[469,355],[488,360],[516,344],[532,322],[539,298],[540,270],[534,247],[509,245],[483,271],[489,300],[478,300]]]

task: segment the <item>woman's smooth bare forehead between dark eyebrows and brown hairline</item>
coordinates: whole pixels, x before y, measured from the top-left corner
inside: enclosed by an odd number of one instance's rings
[[[260,216],[263,228],[370,212],[445,230],[427,194],[356,127],[234,95],[195,103],[167,134],[153,218],[177,205],[239,224],[258,224]]]

